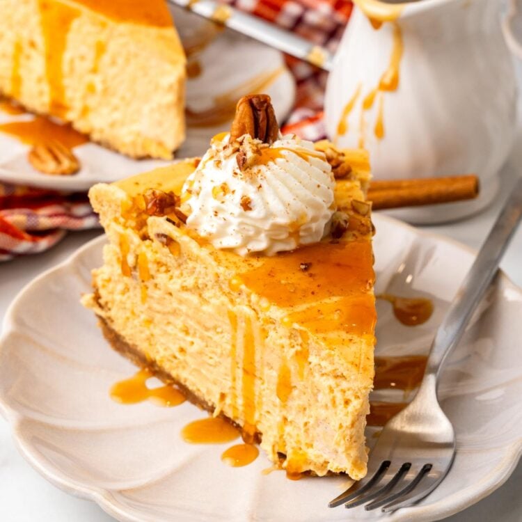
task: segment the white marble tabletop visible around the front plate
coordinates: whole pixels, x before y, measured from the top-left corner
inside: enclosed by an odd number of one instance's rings
[[[521,69],[519,68],[519,72]],[[522,125],[519,125],[512,155],[502,172],[502,190],[491,207],[465,221],[426,227],[479,248],[498,214],[517,175],[522,175]],[[61,244],[41,255],[0,264],[0,321],[10,301],[31,279],[65,259],[76,248],[100,232],[75,232]],[[507,275],[522,286],[522,228],[516,232],[502,263]],[[42,303],[45,306],[45,303]],[[66,318],[64,318],[66,320]],[[449,522],[522,521],[522,463],[512,477],[489,497],[464,512],[446,519]],[[63,493],[38,475],[17,452],[7,423],[0,418],[0,521],[1,522],[106,522],[113,520],[100,507]]]

